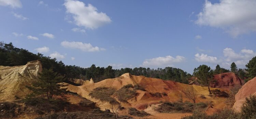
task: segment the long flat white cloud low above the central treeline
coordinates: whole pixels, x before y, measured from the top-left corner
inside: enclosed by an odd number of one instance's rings
[[[142,63],[143,66],[164,66],[164,65],[173,65],[174,63],[184,62],[185,57],[177,55],[175,58],[168,55],[165,57],[156,57],[152,59],[146,59]]]

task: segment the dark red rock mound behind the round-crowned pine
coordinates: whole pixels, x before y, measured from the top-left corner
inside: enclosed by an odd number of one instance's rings
[[[231,88],[244,84],[244,81],[236,74],[228,72],[214,75],[214,81],[210,84],[213,88]]]

